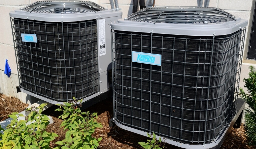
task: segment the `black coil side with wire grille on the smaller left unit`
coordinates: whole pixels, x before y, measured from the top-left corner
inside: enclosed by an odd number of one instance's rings
[[[96,20],[11,24],[21,88],[55,101],[99,91]],[[23,42],[21,33],[36,34],[38,42]]]

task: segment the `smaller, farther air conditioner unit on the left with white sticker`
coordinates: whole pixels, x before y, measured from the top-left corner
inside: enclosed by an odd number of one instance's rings
[[[90,1],[38,1],[10,12],[20,90],[56,104],[110,84],[110,24],[121,11]]]

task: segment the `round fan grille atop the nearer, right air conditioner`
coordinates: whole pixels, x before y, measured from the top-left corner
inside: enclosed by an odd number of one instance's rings
[[[144,8],[128,16],[132,21],[154,23],[217,23],[236,20],[235,16],[211,7]]]

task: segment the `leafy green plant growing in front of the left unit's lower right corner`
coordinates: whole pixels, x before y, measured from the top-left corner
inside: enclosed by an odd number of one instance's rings
[[[61,127],[68,129],[66,132],[65,140],[58,141],[56,144],[59,146],[54,149],[95,149],[99,146],[99,141],[102,137],[96,139],[92,137],[97,127],[102,127],[100,123],[97,123],[97,113],[90,114],[89,111],[82,112],[78,106],[81,105],[81,101],[65,102],[55,111],[62,111],[63,114],[59,117],[63,120]],[[77,104],[79,104],[77,106]]]

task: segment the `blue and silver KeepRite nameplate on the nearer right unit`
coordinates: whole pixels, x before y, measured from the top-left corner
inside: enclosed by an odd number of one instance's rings
[[[162,65],[162,55],[131,51],[131,61],[143,64]]]

